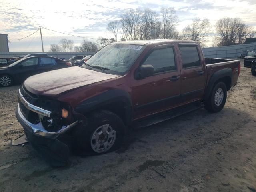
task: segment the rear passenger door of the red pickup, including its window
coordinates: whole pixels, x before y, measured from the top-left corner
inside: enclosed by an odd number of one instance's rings
[[[203,57],[200,56],[197,44],[180,43],[181,97],[183,102],[193,102],[202,99],[206,84],[206,69]]]

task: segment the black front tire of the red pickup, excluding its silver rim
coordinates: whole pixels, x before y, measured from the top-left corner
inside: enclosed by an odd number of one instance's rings
[[[103,125],[109,125],[110,128],[115,131],[116,138],[114,140],[114,144],[109,146],[109,148],[106,148],[106,151],[96,152],[92,148],[92,136],[93,133]],[[114,151],[118,149],[122,143],[124,130],[125,126],[123,121],[113,112],[107,110],[94,112],[88,116],[86,125],[83,124],[81,126],[77,126],[74,130],[73,135],[75,142],[73,145],[73,151],[79,155],[97,155]]]

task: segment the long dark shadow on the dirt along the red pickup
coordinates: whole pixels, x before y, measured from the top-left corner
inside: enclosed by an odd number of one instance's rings
[[[17,160],[15,168],[1,170],[0,175],[5,175],[2,182],[13,180],[12,175],[15,174],[15,179],[20,180],[19,182],[45,178],[44,182],[53,180],[61,183],[62,179],[64,180],[61,173],[65,173],[69,178],[76,177],[77,172],[89,178],[91,174],[99,172],[106,175],[109,170],[121,168],[124,164],[127,166],[131,159],[136,159],[138,168],[134,171],[139,172],[139,168],[144,170],[144,166],[147,168],[151,162],[153,166],[155,163],[162,163],[159,157],[166,154],[168,161],[173,162],[186,158],[189,150],[200,150],[216,141],[230,139],[236,130],[252,121],[252,118],[249,113],[235,108],[226,107],[219,113],[196,110],[172,120],[132,130],[126,135],[120,149],[115,152],[86,158],[72,155],[70,164],[62,168],[52,168],[30,145],[19,150],[10,148],[9,158],[18,152],[23,159]]]

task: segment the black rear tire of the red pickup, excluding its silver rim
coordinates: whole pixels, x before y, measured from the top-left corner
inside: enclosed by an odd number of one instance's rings
[[[222,89],[223,91],[223,99],[222,99],[222,102],[219,105],[217,105],[215,103],[215,94],[219,89]],[[212,89],[209,98],[204,101],[204,108],[209,112],[214,112],[214,113],[219,112],[224,107],[226,103],[226,99],[227,99],[226,85],[224,84],[224,82],[217,82],[214,85],[214,88]]]

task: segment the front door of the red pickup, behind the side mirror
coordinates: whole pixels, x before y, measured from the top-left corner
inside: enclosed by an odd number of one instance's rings
[[[136,80],[132,87],[134,119],[172,108],[180,100],[180,68],[176,64],[173,44],[160,45],[142,60],[141,66],[152,65],[152,76]]]

